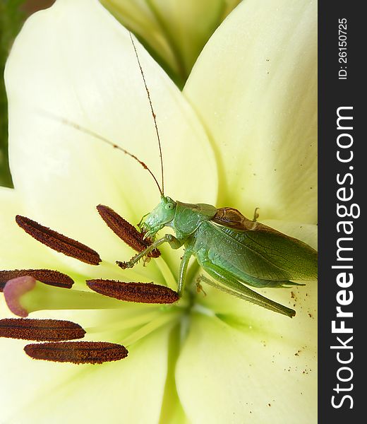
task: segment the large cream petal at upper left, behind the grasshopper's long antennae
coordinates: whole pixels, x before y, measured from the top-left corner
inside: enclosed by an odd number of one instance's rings
[[[205,131],[136,45],[162,139],[165,191],[212,203],[217,170]],[[96,249],[112,266],[131,257],[95,206],[106,204],[138,223],[160,201],[155,183],[124,153],[49,116],[119,143],[160,181],[155,126],[128,32],[97,1],[56,1],[25,23],[8,59],[6,86],[11,171],[28,216]]]

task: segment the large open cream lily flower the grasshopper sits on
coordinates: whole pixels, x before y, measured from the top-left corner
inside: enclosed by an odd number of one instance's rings
[[[315,247],[315,16],[312,1],[244,1],[210,37],[182,92],[135,42],[169,196],[249,217],[260,207],[261,222]],[[10,306],[31,319],[69,320],[83,327],[84,340],[124,345],[128,357],[78,366],[34,360],[24,341],[1,338],[1,419],[315,422],[314,281],[261,290],[293,307],[293,319],[205,285],[206,295],[190,290],[195,263],[172,305],[124,302],[85,284],[104,278],[176,290],[181,249],[162,246],[157,259],[122,271],[115,261],[132,249],[96,210],[107,205],[138,223],[160,198],[136,160],[90,135],[136,155],[159,178],[155,125],[128,31],[97,1],[57,0],[25,23],[6,87],[15,189],[0,188],[0,269],[59,271],[74,284],[44,285],[29,271],[6,283],[1,318]],[[17,218],[19,226],[16,216],[27,218]],[[30,220],[102,261],[55,252],[25,233]]]

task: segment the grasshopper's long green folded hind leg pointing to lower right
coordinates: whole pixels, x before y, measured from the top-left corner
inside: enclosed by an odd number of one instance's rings
[[[230,273],[227,273],[219,266],[212,264],[210,261],[205,261],[203,264],[203,269],[212,277],[215,278],[216,281],[212,281],[210,278],[207,278],[203,275],[198,277],[198,283],[203,282],[212,287],[218,288],[219,290],[224,291],[225,293],[229,293],[231,295],[236,296],[237,298],[241,298],[243,300],[247,300],[248,302],[254,303],[255,305],[259,305],[265,307],[268,310],[273,312],[278,312],[279,314],[287,315],[287,317],[294,317],[296,312],[289,307],[281,305],[280,303],[274,302],[265,296],[256,293],[254,290],[251,290],[243,283],[240,283],[234,276]],[[217,283],[218,281],[218,283]]]

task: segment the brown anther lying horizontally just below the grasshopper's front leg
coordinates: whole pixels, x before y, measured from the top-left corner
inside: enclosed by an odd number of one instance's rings
[[[154,283],[124,283],[116,280],[88,280],[87,285],[101,295],[126,302],[174,303],[179,295],[165,285]]]

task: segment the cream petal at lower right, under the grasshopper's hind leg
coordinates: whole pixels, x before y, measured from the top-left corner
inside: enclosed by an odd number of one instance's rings
[[[315,225],[265,221],[317,245]],[[317,283],[258,290],[296,310],[292,319],[203,284],[176,372],[193,423],[312,423],[317,401]],[[196,376],[189,381],[185,370]],[[205,387],[205,389],[203,389]],[[270,405],[269,405],[270,404]],[[198,412],[199,411],[199,412]],[[199,414],[199,415],[198,415]]]

